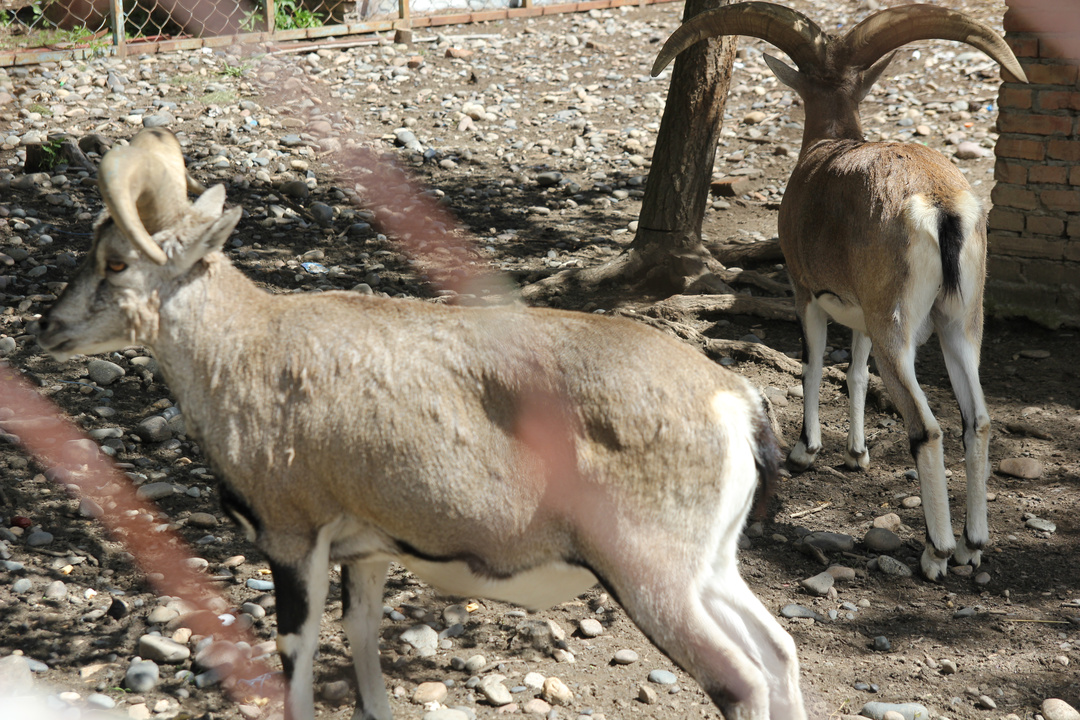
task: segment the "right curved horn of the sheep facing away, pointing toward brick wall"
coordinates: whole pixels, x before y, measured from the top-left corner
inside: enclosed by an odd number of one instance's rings
[[[1020,82],[1027,82],[1004,39],[973,17],[936,5],[901,5],[875,13],[843,36],[848,62],[869,67],[886,54],[916,40],[956,40],[983,51]],[[1009,78],[1007,78],[1008,80]]]

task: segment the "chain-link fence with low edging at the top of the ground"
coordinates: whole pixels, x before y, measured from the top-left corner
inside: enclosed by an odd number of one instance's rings
[[[0,67],[674,0],[0,0]]]

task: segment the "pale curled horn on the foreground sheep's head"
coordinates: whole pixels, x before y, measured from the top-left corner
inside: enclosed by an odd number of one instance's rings
[[[109,150],[97,171],[97,187],[121,232],[158,264],[168,260],[151,234],[174,222],[188,205],[188,179],[176,137],[144,131],[126,147]]]

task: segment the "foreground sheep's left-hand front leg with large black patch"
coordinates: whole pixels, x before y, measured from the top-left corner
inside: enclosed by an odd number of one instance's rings
[[[285,720],[314,720],[314,660],[329,589],[329,545],[320,539],[300,561],[271,559],[278,599],[278,652],[287,683]]]

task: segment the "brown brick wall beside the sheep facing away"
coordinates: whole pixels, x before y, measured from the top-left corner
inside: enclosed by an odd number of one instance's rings
[[[987,310],[1080,326],[1080,1],[1005,0]]]

